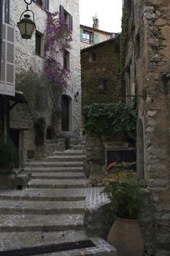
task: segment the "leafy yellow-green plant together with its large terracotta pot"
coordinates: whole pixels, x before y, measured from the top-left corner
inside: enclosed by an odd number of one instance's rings
[[[132,163],[134,164],[134,163]],[[131,170],[131,163],[113,162],[104,177],[104,190],[115,211],[107,241],[117,249],[117,256],[142,256],[143,239],[138,216],[144,201],[144,182]]]

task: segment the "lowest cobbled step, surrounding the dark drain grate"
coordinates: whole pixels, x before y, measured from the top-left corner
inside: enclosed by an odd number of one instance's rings
[[[53,252],[46,256],[116,256],[116,250],[102,238],[88,238],[82,230],[66,230],[58,232],[2,232],[0,233],[0,251],[29,248],[49,244],[63,244],[71,241],[90,239],[95,246],[85,249],[74,249],[64,252]],[[43,254],[44,255],[44,254]]]

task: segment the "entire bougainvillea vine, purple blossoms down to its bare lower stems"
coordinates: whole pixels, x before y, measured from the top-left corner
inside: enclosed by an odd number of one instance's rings
[[[50,91],[53,100],[52,119],[60,117],[60,99],[63,88],[67,84],[70,72],[61,65],[64,50],[70,48],[72,33],[59,12],[49,12],[46,29],[45,73],[50,80]]]

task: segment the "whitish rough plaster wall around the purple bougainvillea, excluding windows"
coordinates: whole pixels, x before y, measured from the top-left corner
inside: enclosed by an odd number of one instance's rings
[[[73,111],[73,127],[75,130],[81,129],[81,81],[80,81],[80,15],[79,15],[79,0],[50,0],[50,12],[59,12],[59,6],[63,5],[64,9],[73,16],[73,32],[70,53],[70,78],[65,91],[69,91],[73,95],[78,91],[79,97],[74,100]],[[29,6],[34,11],[36,30],[45,34],[47,12],[39,5],[32,2]],[[11,1],[11,23],[15,25],[16,30],[16,72],[22,72],[30,67],[35,72],[39,73],[43,70],[45,59],[37,56],[35,53],[35,34],[31,39],[22,39],[17,23],[21,13],[26,10],[26,4],[23,0]],[[61,64],[62,64],[61,60]],[[15,126],[15,116],[18,116],[17,111],[12,110],[11,125]],[[19,116],[18,116],[19,118]],[[76,120],[76,121],[75,121]],[[50,118],[47,120],[50,123]],[[50,125],[50,124],[48,124]],[[15,126],[16,127],[16,126]],[[78,128],[79,127],[79,128]],[[74,131],[73,131],[74,132]]]

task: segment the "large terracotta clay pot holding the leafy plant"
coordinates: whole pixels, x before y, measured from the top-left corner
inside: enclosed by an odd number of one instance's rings
[[[115,218],[107,241],[117,249],[117,256],[142,256],[144,244],[137,219]]]

